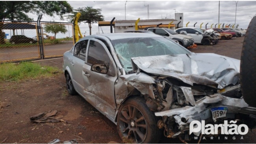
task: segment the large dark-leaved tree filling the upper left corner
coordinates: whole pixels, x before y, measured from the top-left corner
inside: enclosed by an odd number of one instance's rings
[[[71,13],[72,7],[67,1],[0,1],[0,44],[4,44],[2,32],[3,20],[33,20],[27,14],[58,15],[63,19],[63,14]]]

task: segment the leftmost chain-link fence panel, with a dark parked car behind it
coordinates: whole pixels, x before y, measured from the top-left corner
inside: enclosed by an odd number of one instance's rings
[[[39,59],[38,28],[37,23],[1,22],[0,62]]]

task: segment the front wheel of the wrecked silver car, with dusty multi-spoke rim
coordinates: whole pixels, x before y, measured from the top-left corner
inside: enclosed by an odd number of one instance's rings
[[[117,115],[117,131],[121,138],[132,140],[133,143],[158,143],[161,134],[156,116],[141,97],[132,97],[121,105]]]

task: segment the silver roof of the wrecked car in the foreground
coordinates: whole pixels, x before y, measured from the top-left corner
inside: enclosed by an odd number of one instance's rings
[[[81,38],[80,40],[84,40],[87,38],[108,38],[109,40],[118,40],[124,38],[143,38],[143,37],[160,37],[162,36],[157,34],[150,34],[150,33],[137,33],[137,32],[119,32],[119,33],[108,33],[108,34],[94,34],[91,36],[86,36]]]

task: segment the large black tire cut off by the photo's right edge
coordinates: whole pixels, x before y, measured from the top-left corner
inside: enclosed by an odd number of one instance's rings
[[[243,41],[240,82],[245,102],[256,107],[256,16],[252,18]]]

